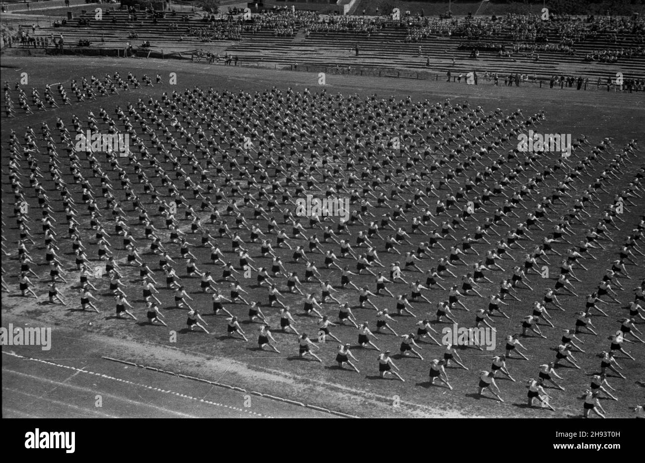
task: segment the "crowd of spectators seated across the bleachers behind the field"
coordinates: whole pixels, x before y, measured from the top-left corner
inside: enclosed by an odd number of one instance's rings
[[[242,13],[239,10],[238,13]],[[114,10],[106,10],[104,14],[113,22],[117,21]],[[138,38],[137,24],[143,25],[145,19],[157,19],[167,16],[177,16],[177,12],[155,12],[152,8],[137,11],[127,9],[126,22],[134,26],[128,38]],[[92,26],[92,17],[81,18],[86,25]],[[507,14],[501,17],[463,17],[442,18],[426,17],[422,14],[412,15],[402,12],[401,19],[392,19],[391,15],[377,16],[342,16],[321,15],[315,12],[292,10],[291,8],[275,8],[261,14],[254,14],[249,19],[243,14],[202,14],[202,26],[195,26],[189,21],[188,15],[181,15],[177,21],[167,26],[168,31],[181,32],[180,41],[184,37],[197,37],[200,41],[241,40],[244,34],[270,31],[276,37],[294,37],[303,31],[305,37],[312,34],[335,34],[350,32],[364,34],[370,37],[384,28],[403,30],[404,41],[421,42],[432,37],[452,37],[460,39],[458,50],[470,50],[471,58],[477,59],[481,52],[515,59],[517,55],[530,57],[539,61],[541,53],[557,53],[563,55],[580,55],[585,61],[600,63],[616,63],[621,59],[645,55],[644,36],[645,20],[639,17],[588,16],[571,17],[551,14],[548,21],[543,21],[540,15]],[[185,24],[182,24],[185,23]],[[81,24],[81,23],[79,23]],[[611,48],[607,43],[622,43],[624,34],[630,34],[631,43],[636,46],[628,48]],[[35,34],[34,34],[35,35]],[[16,39],[3,37],[5,46],[11,46]],[[587,52],[586,55],[577,53],[577,44],[584,41],[602,39],[603,46],[599,50]],[[46,37],[30,37],[28,32],[22,32],[19,40],[23,46],[47,46]],[[102,40],[102,43],[104,41]],[[53,43],[53,42],[52,42]],[[631,44],[628,43],[628,44]]]

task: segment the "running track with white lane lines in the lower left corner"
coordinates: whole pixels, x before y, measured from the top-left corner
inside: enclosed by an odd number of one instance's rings
[[[255,395],[246,408],[239,391],[100,358],[46,359],[39,353],[37,347],[3,346],[3,418],[334,417]],[[97,395],[101,407],[95,406]]]

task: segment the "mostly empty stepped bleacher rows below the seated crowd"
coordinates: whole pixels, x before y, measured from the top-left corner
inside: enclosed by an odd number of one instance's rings
[[[483,2],[482,2],[483,3]],[[79,26],[78,19],[70,21],[66,26],[59,28],[43,28],[36,32],[36,35],[58,35],[63,34],[66,44],[73,45],[79,39],[86,39],[88,35],[94,39],[92,45],[99,45],[101,48],[121,48],[126,41],[134,46],[141,41],[149,40],[153,50],[181,51],[186,49],[194,50],[215,50],[217,52],[226,49],[232,54],[240,55],[244,61],[264,61],[275,64],[293,63],[332,63],[352,66],[378,66],[386,68],[397,66],[423,70],[426,57],[430,58],[433,68],[445,74],[448,68],[452,68],[452,57],[455,57],[457,64],[455,70],[477,69],[478,72],[499,72],[501,75],[509,72],[520,72],[522,74],[533,74],[538,71],[548,74],[562,74],[564,64],[573,64],[577,68],[583,68],[587,75],[606,75],[610,69],[616,66],[626,66],[629,72],[642,74],[645,71],[645,57],[624,58],[617,65],[603,63],[587,63],[584,55],[593,50],[604,48],[619,48],[610,34],[598,34],[594,39],[584,43],[576,43],[577,54],[566,55],[556,51],[537,51],[540,55],[539,63],[530,58],[530,52],[517,52],[513,59],[499,57],[495,52],[480,50],[479,59],[470,59],[470,50],[458,50],[460,43],[469,41],[462,37],[446,37],[442,35],[429,35],[419,41],[406,41],[408,32],[405,28],[386,26],[370,34],[370,38],[364,32],[317,32],[313,31],[308,37],[304,35],[304,28],[296,28],[293,37],[279,37],[273,30],[259,30],[256,32],[244,31],[241,40],[231,41],[226,39],[202,42],[198,37],[188,35],[188,28],[204,28],[208,26],[199,15],[190,12],[178,12],[175,16],[167,15],[163,19],[157,19],[153,24],[150,17],[139,12],[136,23],[128,22],[127,12],[114,11],[104,17],[103,21],[91,21],[90,26]],[[91,12],[84,17],[91,18]],[[116,23],[111,19],[114,17]],[[188,21],[184,21],[184,17]],[[107,19],[107,21],[106,21]],[[172,23],[177,24],[177,30],[168,30]],[[128,39],[127,35],[136,30],[139,37]],[[104,44],[100,44],[103,35]],[[179,38],[183,37],[180,41]],[[557,30],[548,33],[550,43],[559,43],[560,37]],[[491,43],[512,43],[510,33],[506,32],[486,40]],[[632,34],[619,34],[620,46],[639,46],[637,38]],[[361,52],[359,58],[355,57],[354,47],[359,44]],[[419,57],[419,46],[421,46],[421,57]],[[459,72],[459,71],[457,71]],[[564,74],[568,74],[564,72]]]

